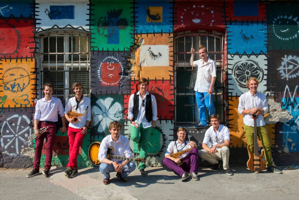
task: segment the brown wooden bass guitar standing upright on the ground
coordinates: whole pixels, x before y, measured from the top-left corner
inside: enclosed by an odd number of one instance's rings
[[[249,152],[249,160],[247,161],[247,167],[253,172],[260,172],[266,168],[266,163],[262,159],[264,151],[259,155],[259,145],[257,143],[257,115],[252,115],[254,123],[254,154],[250,151],[249,145],[247,150]]]

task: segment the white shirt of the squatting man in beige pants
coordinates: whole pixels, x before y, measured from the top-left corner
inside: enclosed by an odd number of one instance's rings
[[[216,134],[217,134],[217,139],[218,143],[216,142]],[[208,128],[208,130],[205,133],[205,138],[202,143],[205,143],[208,145],[209,142],[211,142],[210,148],[212,148],[214,145],[221,145],[224,143],[224,140],[230,141],[229,137],[229,130],[228,127],[224,126],[223,124],[219,124],[218,131],[214,131],[214,127],[211,126]],[[221,149],[221,148],[216,148],[216,149]]]

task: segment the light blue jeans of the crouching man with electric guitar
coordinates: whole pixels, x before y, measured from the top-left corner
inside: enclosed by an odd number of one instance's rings
[[[118,163],[121,164],[123,162],[124,162],[124,160],[121,160]],[[133,172],[135,170],[135,168],[136,168],[136,164],[133,163],[132,161],[130,161],[128,164],[126,164],[123,167],[123,172],[120,173],[121,177],[126,178],[131,172]],[[106,164],[106,163],[101,163],[100,164],[100,172],[104,175],[104,178],[106,180],[108,180],[109,177],[110,177],[109,173],[110,172],[115,172],[115,169],[114,169],[113,165],[109,165],[109,164]]]

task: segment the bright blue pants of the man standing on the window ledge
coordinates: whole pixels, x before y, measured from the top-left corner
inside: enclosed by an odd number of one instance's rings
[[[207,97],[205,97],[205,95],[207,95],[207,94],[208,94],[208,92],[195,91],[196,103],[197,103],[197,108],[198,108],[198,112],[199,112],[199,121],[204,126],[207,126],[205,106],[208,108],[209,116],[215,114],[214,104],[213,104],[213,94],[211,94],[211,100],[210,100],[210,94]],[[205,97],[205,99],[202,100],[204,97]],[[202,101],[200,101],[200,100],[202,100]],[[209,101],[210,101],[210,103],[209,103]]]

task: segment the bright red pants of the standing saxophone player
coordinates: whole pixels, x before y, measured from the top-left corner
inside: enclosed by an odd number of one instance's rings
[[[77,157],[79,154],[79,148],[82,145],[85,134],[80,133],[82,129],[68,127],[68,143],[70,144],[69,154],[70,158],[67,167],[78,168]]]

